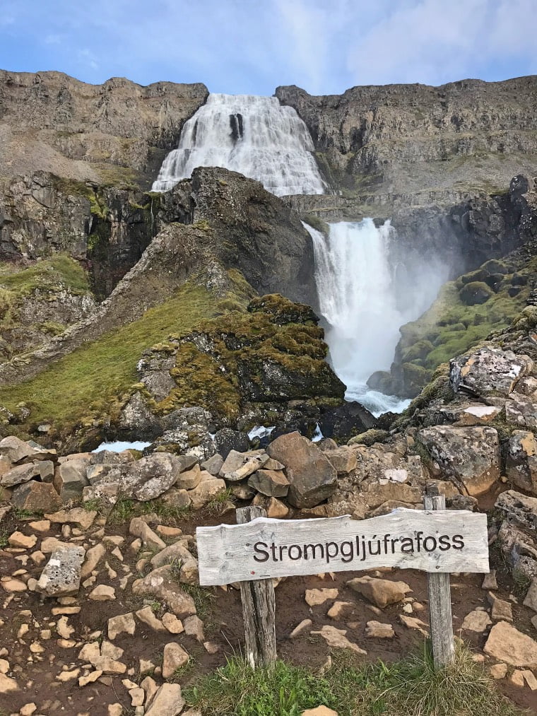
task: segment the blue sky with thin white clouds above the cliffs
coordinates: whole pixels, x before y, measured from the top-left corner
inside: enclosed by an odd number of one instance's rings
[[[0,0],[0,68],[311,94],[537,74],[537,0]]]

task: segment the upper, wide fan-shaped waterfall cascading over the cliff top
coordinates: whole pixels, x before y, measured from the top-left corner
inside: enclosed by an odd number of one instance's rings
[[[322,194],[308,128],[276,97],[211,94],[185,122],[153,191],[168,191],[196,167],[223,167],[260,181],[277,196]]]

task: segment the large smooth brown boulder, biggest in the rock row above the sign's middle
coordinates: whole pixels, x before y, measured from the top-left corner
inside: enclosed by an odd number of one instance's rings
[[[294,507],[314,507],[334,493],[336,469],[326,455],[299,432],[276,437],[266,451],[270,458],[286,465],[291,483],[287,499]]]

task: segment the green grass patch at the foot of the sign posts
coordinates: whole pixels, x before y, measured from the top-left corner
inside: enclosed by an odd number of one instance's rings
[[[339,716],[521,714],[462,646],[455,663],[441,671],[427,652],[395,664],[359,664],[339,655],[323,675],[281,661],[254,671],[235,657],[183,695],[203,716],[299,716],[319,705]]]

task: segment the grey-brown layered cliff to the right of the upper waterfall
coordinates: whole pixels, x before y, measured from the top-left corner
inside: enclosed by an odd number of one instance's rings
[[[465,79],[441,87],[391,84],[312,97],[278,87],[309,127],[334,188],[352,195],[501,190],[533,172],[537,77]]]

